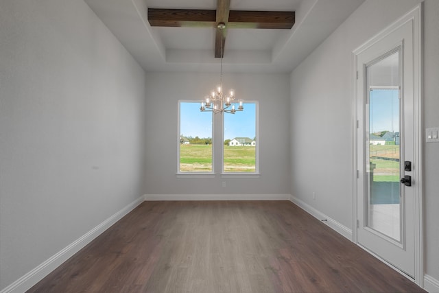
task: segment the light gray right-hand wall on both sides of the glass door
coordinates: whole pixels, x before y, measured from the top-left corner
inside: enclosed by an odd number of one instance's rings
[[[291,74],[292,195],[349,228],[353,204],[351,52],[419,2],[366,1]],[[439,1],[425,1],[426,127],[439,126],[438,10]],[[297,137],[316,143],[296,143]],[[439,279],[439,144],[425,144],[424,155],[425,272]]]

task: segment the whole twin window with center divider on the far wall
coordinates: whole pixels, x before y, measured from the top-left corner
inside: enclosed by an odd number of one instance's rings
[[[178,102],[177,174],[204,177],[215,173],[226,176],[259,172],[258,105],[244,102],[243,106],[243,112],[214,115],[201,112],[200,101]],[[214,120],[223,127],[213,130]],[[222,161],[222,165],[214,167],[214,161]]]

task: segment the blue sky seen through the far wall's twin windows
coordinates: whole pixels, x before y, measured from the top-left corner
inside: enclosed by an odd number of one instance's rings
[[[245,103],[244,111],[224,113],[224,140],[235,137],[256,137],[256,104]],[[238,108],[238,104],[235,104]],[[200,103],[180,103],[180,134],[185,137],[212,137],[212,113],[200,112]],[[221,114],[215,114],[221,115]]]

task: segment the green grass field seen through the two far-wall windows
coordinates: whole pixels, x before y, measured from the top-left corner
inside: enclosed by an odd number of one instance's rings
[[[255,172],[256,148],[224,145],[224,172]],[[180,172],[211,172],[212,145],[180,145]]]

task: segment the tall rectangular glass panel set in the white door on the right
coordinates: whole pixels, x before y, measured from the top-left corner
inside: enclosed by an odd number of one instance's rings
[[[367,226],[401,242],[400,52],[366,66]]]

